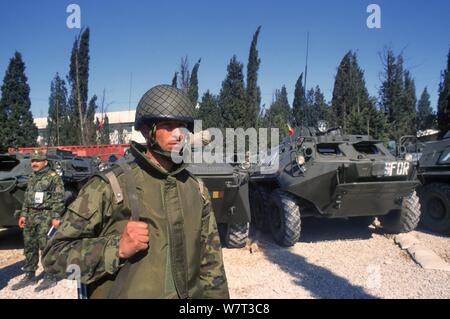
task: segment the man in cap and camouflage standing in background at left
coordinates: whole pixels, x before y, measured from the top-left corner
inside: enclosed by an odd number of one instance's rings
[[[48,167],[45,153],[35,151],[31,155],[33,174],[27,184],[22,210],[19,216],[19,227],[23,229],[25,277],[12,287],[21,289],[37,282],[35,276],[39,262],[39,250],[47,244],[47,233],[53,225],[60,224],[64,212],[64,185],[61,177]],[[56,285],[53,276],[44,275],[42,283],[36,287],[41,291]]]

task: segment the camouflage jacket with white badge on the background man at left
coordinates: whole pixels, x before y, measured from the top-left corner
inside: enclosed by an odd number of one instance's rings
[[[27,184],[21,217],[27,217],[30,210],[50,212],[52,218],[64,213],[64,184],[61,177],[49,167],[34,172]]]

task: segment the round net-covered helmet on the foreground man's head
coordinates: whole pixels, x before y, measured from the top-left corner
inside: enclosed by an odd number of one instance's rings
[[[177,120],[194,129],[194,106],[187,94],[170,85],[158,85],[142,96],[136,108],[135,130],[161,120]]]

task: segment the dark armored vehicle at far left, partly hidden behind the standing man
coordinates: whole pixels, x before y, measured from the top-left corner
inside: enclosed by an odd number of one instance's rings
[[[66,204],[72,202],[81,187],[95,174],[100,165],[97,157],[76,156],[69,151],[48,150],[49,166],[64,182]],[[17,225],[16,212],[22,208],[22,201],[31,175],[29,154],[15,153],[0,155],[0,226]]]

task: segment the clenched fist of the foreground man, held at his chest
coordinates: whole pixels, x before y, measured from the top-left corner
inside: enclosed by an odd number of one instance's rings
[[[148,225],[143,222],[128,222],[120,237],[119,257],[130,258],[141,250],[148,248]]]

